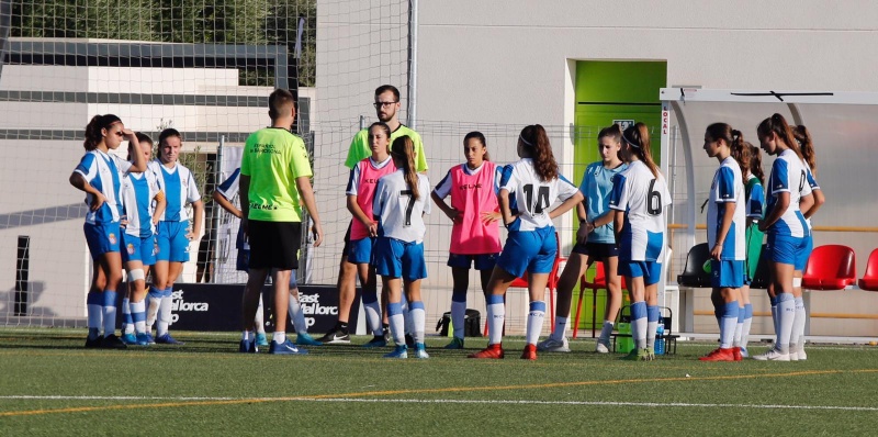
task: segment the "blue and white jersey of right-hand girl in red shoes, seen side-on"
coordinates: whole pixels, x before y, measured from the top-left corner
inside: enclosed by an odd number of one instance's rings
[[[732,224],[722,244],[720,259],[743,261],[745,253],[746,205],[744,199],[744,181],[741,166],[731,156],[722,160],[720,168],[713,173],[710,184],[710,200],[707,203],[707,242],[716,246],[717,235],[722,228],[722,218],[727,208],[734,208]]]

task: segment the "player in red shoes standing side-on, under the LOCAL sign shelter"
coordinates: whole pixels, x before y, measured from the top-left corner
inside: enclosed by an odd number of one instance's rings
[[[740,289],[744,284],[745,210],[743,172],[750,150],[741,131],[725,123],[713,123],[705,132],[705,152],[717,158],[707,206],[707,240],[710,249],[713,314],[720,327],[720,347],[699,358],[701,361],[741,361],[741,347],[734,344],[740,315]],[[740,337],[739,337],[740,340]]]

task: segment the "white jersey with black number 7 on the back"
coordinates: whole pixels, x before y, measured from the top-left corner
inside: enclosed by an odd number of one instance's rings
[[[430,181],[418,173],[419,198],[415,200],[405,183],[405,170],[381,177],[372,200],[372,213],[378,218],[378,235],[406,243],[420,243],[427,226],[421,214],[430,213]]]

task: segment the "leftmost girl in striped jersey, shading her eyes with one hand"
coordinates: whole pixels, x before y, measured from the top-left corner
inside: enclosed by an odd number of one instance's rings
[[[94,115],[86,126],[86,155],[70,175],[70,184],[87,193],[86,242],[89,245],[94,274],[87,298],[89,335],[86,347],[124,348],[115,335],[116,290],[122,282],[121,237],[122,178],[128,172],[146,170],[143,155],[128,163],[111,155],[127,139],[137,145],[137,136],[112,114]],[[101,334],[103,328],[103,334]]]

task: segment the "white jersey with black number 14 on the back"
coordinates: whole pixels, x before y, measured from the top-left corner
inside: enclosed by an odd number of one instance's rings
[[[540,180],[533,170],[531,158],[521,158],[504,167],[500,190],[507,190],[510,195],[515,195],[519,220],[509,226],[509,231],[518,232],[552,226],[552,220],[549,218],[550,206],[555,201],[563,202],[576,195],[579,191],[561,175],[552,180]]]

